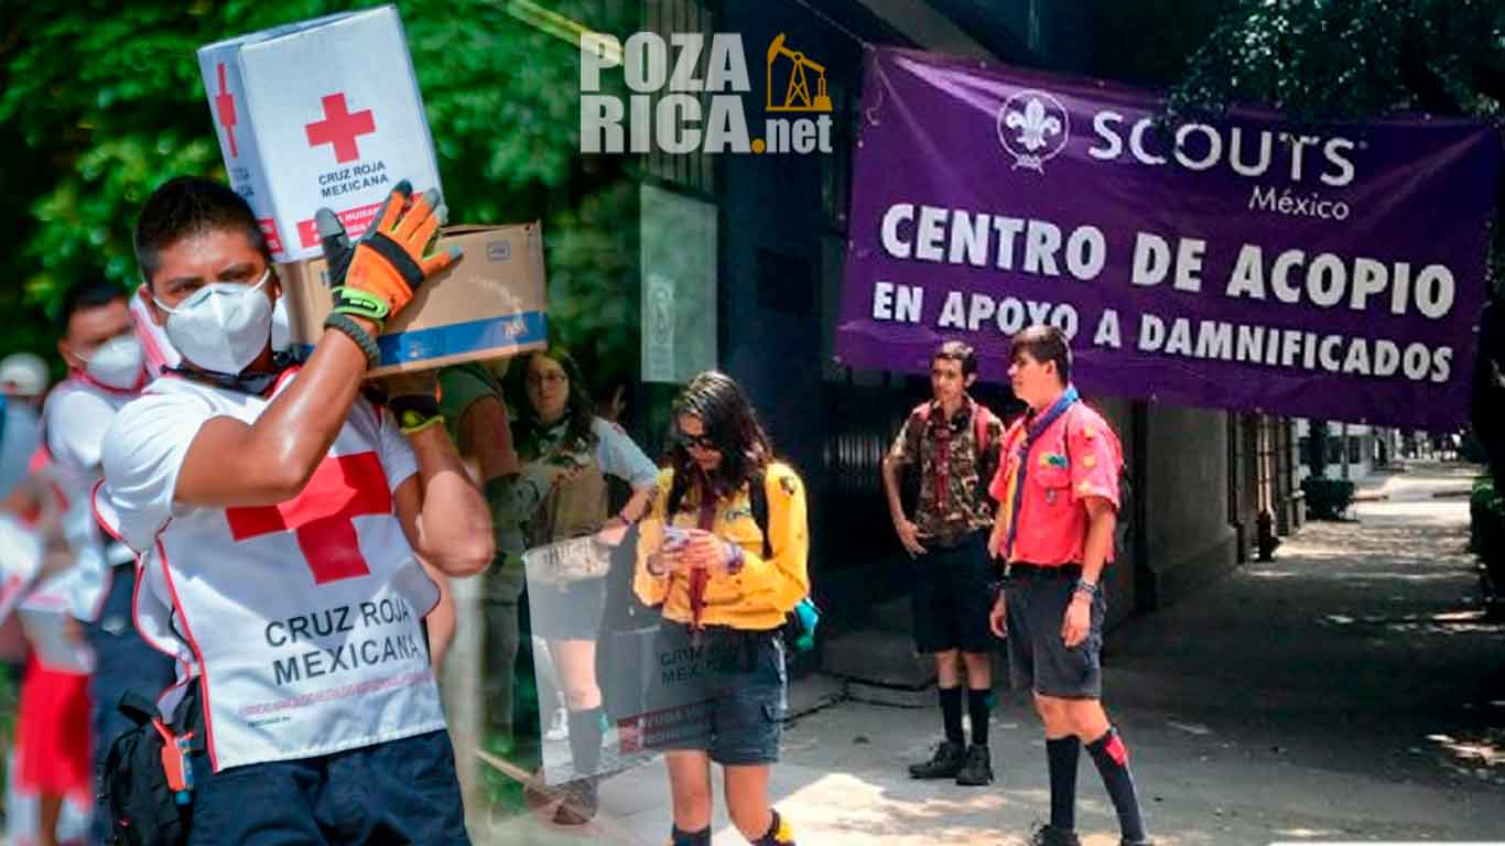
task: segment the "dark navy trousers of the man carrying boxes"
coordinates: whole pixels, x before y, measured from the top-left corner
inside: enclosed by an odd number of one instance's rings
[[[448,732],[218,774],[194,754],[190,846],[468,844]]]

